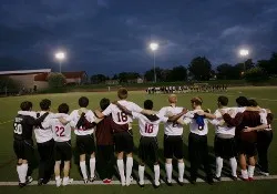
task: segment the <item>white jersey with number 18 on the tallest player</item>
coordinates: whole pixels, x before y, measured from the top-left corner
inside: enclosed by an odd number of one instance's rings
[[[129,111],[132,112],[142,112],[143,109],[140,108],[137,104],[126,101],[126,100],[120,100],[117,101],[121,105],[125,106]],[[110,104],[103,112],[104,115],[110,115],[112,113],[113,121],[116,124],[127,124],[130,122],[133,122],[132,116],[127,115],[126,113],[122,112],[117,105]]]

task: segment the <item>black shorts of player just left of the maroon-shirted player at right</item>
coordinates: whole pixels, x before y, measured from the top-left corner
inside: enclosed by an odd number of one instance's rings
[[[235,139],[220,139],[215,136],[214,142],[215,156],[222,159],[232,159],[237,155]]]

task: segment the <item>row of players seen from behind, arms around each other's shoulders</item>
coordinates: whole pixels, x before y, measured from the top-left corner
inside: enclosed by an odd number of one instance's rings
[[[236,99],[237,108],[228,108],[228,99],[217,99],[218,109],[215,113],[202,109],[203,100],[198,96],[191,100],[192,110],[177,106],[177,96],[168,95],[168,105],[160,111],[153,111],[154,103],[144,101],[144,108],[127,101],[127,90],[117,91],[119,100],[100,101],[100,110],[88,109],[89,99],[79,99],[80,109],[69,114],[69,105],[62,103],[59,113],[51,113],[51,101],[40,102],[41,111],[32,111],[32,103],[22,102],[21,111],[14,119],[13,150],[18,157],[17,172],[19,186],[32,182],[32,156],[34,153],[32,132],[37,140],[40,155],[38,184],[47,184],[52,174],[57,186],[72,183],[70,166],[72,160],[71,131],[75,134],[76,153],[80,156],[80,170],[84,184],[95,181],[95,171],[103,183],[111,183],[113,176],[113,157],[116,153],[116,164],[122,186],[129,186],[133,170],[133,120],[138,121],[138,185],[144,186],[145,163],[154,165],[154,186],[158,187],[160,161],[157,134],[160,123],[164,123],[164,157],[166,183],[173,182],[173,160],[177,160],[178,184],[184,184],[184,142],[183,129],[188,125],[188,159],[191,162],[189,182],[196,183],[197,171],[204,165],[206,182],[220,181],[223,161],[228,160],[232,169],[230,177],[237,180],[237,159],[240,166],[240,178],[254,180],[255,166],[260,174],[268,176],[267,151],[273,140],[273,113],[259,108],[255,100],[244,96]],[[208,160],[207,133],[208,123],[215,127],[214,151],[216,171],[212,172]],[[94,140],[95,139],[95,140]],[[258,163],[256,162],[258,155]],[[126,157],[124,160],[124,156]],[[89,157],[89,160],[86,160]],[[124,163],[125,161],[125,163]],[[98,162],[98,167],[96,167]],[[89,171],[88,171],[89,169]],[[63,173],[61,173],[63,170]],[[63,174],[63,177],[61,177]]]

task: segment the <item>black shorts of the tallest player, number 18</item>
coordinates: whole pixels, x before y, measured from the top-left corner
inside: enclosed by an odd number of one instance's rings
[[[132,153],[134,150],[133,133],[131,130],[114,133],[115,152]]]

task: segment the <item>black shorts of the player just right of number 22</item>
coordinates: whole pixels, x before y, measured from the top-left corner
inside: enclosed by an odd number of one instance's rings
[[[90,135],[76,135],[76,149],[80,155],[91,155],[95,152],[95,144],[93,134]]]

